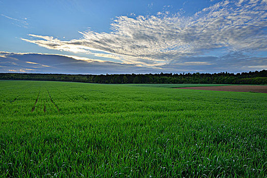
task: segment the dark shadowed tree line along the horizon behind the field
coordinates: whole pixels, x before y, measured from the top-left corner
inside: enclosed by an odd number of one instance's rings
[[[267,84],[267,70],[242,73],[160,73],[160,74],[28,74],[0,73],[1,80],[48,80],[86,83],[213,83],[213,84]]]

